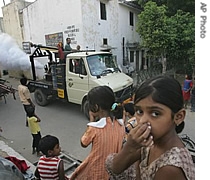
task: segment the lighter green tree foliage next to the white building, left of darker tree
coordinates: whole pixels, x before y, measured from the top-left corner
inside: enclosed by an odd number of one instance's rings
[[[165,13],[165,6],[157,6],[154,2],[148,2],[144,11],[138,15],[137,32],[142,38],[140,45],[145,48],[149,47],[155,54],[163,52],[167,46],[167,17]]]

